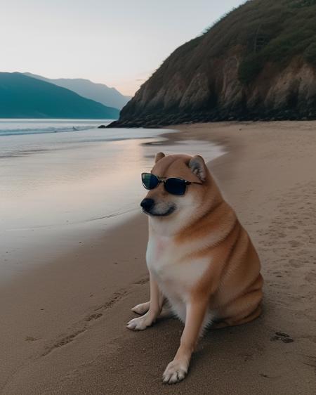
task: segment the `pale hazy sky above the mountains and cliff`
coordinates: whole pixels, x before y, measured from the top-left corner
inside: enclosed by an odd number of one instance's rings
[[[0,71],[86,78],[133,95],[244,0],[0,0]]]

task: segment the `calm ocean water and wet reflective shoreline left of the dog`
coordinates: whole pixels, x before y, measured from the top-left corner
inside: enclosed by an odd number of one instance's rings
[[[162,134],[176,133],[169,129],[98,129],[109,122],[0,119],[2,278],[140,212],[140,173],[157,151],[206,160],[223,153],[204,141],[168,143]]]

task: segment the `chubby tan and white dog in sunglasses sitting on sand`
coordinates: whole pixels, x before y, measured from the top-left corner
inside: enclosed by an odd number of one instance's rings
[[[206,327],[240,325],[260,315],[263,278],[249,235],[202,157],[157,153],[142,179],[149,190],[140,205],[149,216],[150,302],[132,309],[142,316],[127,328],[144,330],[168,313],[166,305],[185,323],[162,377],[172,384],[187,375]]]

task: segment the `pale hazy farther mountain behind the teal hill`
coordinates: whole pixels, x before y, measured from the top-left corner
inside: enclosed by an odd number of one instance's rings
[[[70,91],[74,91],[80,96],[84,96],[84,98],[98,101],[99,103],[110,107],[119,108],[119,110],[121,110],[121,108],[123,108],[124,105],[126,105],[126,103],[131,99],[131,96],[123,96],[115,88],[109,88],[104,84],[96,84],[95,82],[91,82],[88,79],[51,79],[42,77],[41,75],[32,74],[30,72],[25,72],[24,74],[28,77],[41,79],[43,81],[50,82],[51,84],[62,86],[62,88],[70,89]]]

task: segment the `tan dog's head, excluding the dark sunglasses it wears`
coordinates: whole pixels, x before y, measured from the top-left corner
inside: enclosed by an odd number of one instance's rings
[[[163,182],[149,190],[145,199],[140,202],[143,212],[157,220],[181,217],[186,219],[202,204],[206,188],[209,186],[209,170],[202,157],[189,155],[167,155],[157,153],[151,171],[159,179],[169,178],[189,181],[183,195],[169,193]],[[179,218],[180,219],[180,218]]]

